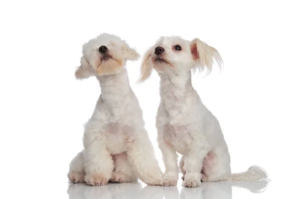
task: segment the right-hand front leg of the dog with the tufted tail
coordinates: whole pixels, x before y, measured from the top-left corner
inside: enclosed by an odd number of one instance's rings
[[[201,186],[201,169],[204,157],[208,151],[205,145],[199,145],[193,141],[190,145],[190,151],[184,157],[184,169],[186,171],[182,186],[188,188]]]

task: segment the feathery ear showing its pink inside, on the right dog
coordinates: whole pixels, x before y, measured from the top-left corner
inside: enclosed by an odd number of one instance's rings
[[[215,48],[202,42],[198,38],[195,38],[190,42],[190,48],[191,48],[192,58],[195,61],[195,65],[196,65],[194,67],[195,70],[197,68],[200,71],[202,71],[206,67],[207,74],[209,74],[212,70],[214,60],[217,62],[218,66],[221,69],[221,66],[223,64],[222,58],[219,52]]]

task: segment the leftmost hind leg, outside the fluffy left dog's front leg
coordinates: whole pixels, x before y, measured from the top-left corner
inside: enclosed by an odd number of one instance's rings
[[[79,152],[71,161],[67,177],[73,183],[84,183],[83,153]]]

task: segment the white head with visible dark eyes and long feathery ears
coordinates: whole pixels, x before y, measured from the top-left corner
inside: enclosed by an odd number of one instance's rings
[[[147,80],[153,69],[170,76],[205,68],[210,73],[214,60],[222,65],[218,51],[198,38],[187,41],[180,37],[160,37],[143,57],[139,82]]]

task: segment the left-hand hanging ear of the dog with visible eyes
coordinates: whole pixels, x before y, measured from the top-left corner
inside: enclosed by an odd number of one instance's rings
[[[140,68],[140,78],[138,80],[138,83],[143,83],[147,79],[149,79],[151,72],[153,70],[153,64],[150,60],[152,49],[149,48],[146,53],[144,54],[141,62],[141,68]]]

